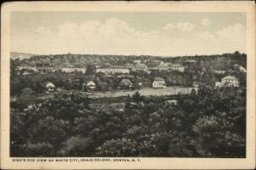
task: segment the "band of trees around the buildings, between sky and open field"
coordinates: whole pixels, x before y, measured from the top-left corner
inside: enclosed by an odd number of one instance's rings
[[[116,74],[105,75],[97,73],[95,75],[84,75],[82,73],[67,74],[56,71],[48,74],[30,74],[18,75],[15,68],[17,65],[27,64],[34,65],[35,63],[51,63],[53,65],[60,65],[63,63],[81,65],[89,64],[125,64],[130,63],[133,59],[160,59],[165,62],[183,63],[186,59],[195,59],[197,67],[194,69],[186,69],[184,72],[179,71],[131,71],[130,75]],[[78,55],[78,54],[61,54],[61,55],[45,55],[33,56],[31,59],[11,59],[11,79],[10,79],[10,93],[12,96],[20,95],[22,89],[32,88],[36,93],[44,91],[43,82],[53,82],[56,88],[65,88],[67,90],[81,90],[83,82],[94,81],[96,82],[96,89],[99,91],[112,90],[117,87],[122,77],[129,78],[133,82],[135,88],[151,87],[155,77],[162,77],[166,81],[167,86],[187,86],[191,87],[192,82],[201,82],[205,85],[214,86],[215,82],[221,81],[225,76],[235,76],[238,78],[241,87],[246,87],[246,73],[234,71],[233,65],[238,64],[246,67],[246,54],[238,52],[234,54],[222,55],[208,55],[208,56],[184,56],[163,58],[154,56],[116,56],[116,55]],[[58,62],[55,62],[57,60]],[[224,70],[224,74],[215,74],[214,70]],[[78,80],[78,81],[77,81]],[[141,82],[142,87],[137,84]]]

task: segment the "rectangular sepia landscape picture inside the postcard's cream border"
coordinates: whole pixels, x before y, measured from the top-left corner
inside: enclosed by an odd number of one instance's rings
[[[247,17],[10,11],[9,157],[246,159]]]

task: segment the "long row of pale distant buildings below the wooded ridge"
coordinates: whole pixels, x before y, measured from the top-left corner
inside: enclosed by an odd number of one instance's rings
[[[50,72],[61,71],[66,73],[75,73],[81,72],[85,73],[89,71],[90,74],[96,73],[105,73],[105,74],[130,74],[131,71],[146,71],[150,72],[152,70],[166,70],[166,71],[180,71],[183,72],[185,68],[189,68],[191,65],[196,63],[193,59],[188,59],[183,62],[183,65],[180,64],[172,64],[169,62],[163,62],[158,59],[148,59],[143,62],[139,59],[133,60],[131,63],[125,63],[124,65],[111,65],[111,64],[103,64],[103,65],[87,65],[85,66],[76,66],[70,64],[62,64],[61,66],[52,66],[49,64],[37,64],[34,66],[30,65],[19,65],[17,67],[17,71],[22,71],[22,75],[32,74],[32,72],[36,72],[39,74],[47,74]]]

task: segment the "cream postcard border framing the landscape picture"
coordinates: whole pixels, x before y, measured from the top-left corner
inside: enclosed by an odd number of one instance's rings
[[[246,169],[255,167],[255,6],[253,2],[15,2],[1,8],[1,168]],[[140,158],[141,162],[13,162],[9,158],[9,26],[11,11],[247,13],[247,158]]]

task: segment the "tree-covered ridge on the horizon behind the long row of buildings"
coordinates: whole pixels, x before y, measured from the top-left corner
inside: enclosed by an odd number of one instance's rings
[[[247,55],[240,54],[239,52],[233,54],[212,54],[212,55],[195,55],[183,57],[160,57],[150,55],[100,55],[100,54],[56,54],[56,55],[34,55],[30,59],[22,60],[22,64],[34,65],[35,63],[48,63],[54,66],[58,65],[83,65],[90,64],[106,64],[123,65],[125,63],[132,63],[133,60],[140,59],[144,62],[147,59],[159,59],[164,62],[172,64],[182,64],[187,59],[195,59],[199,65],[218,69],[226,70],[235,64],[246,67]]]

